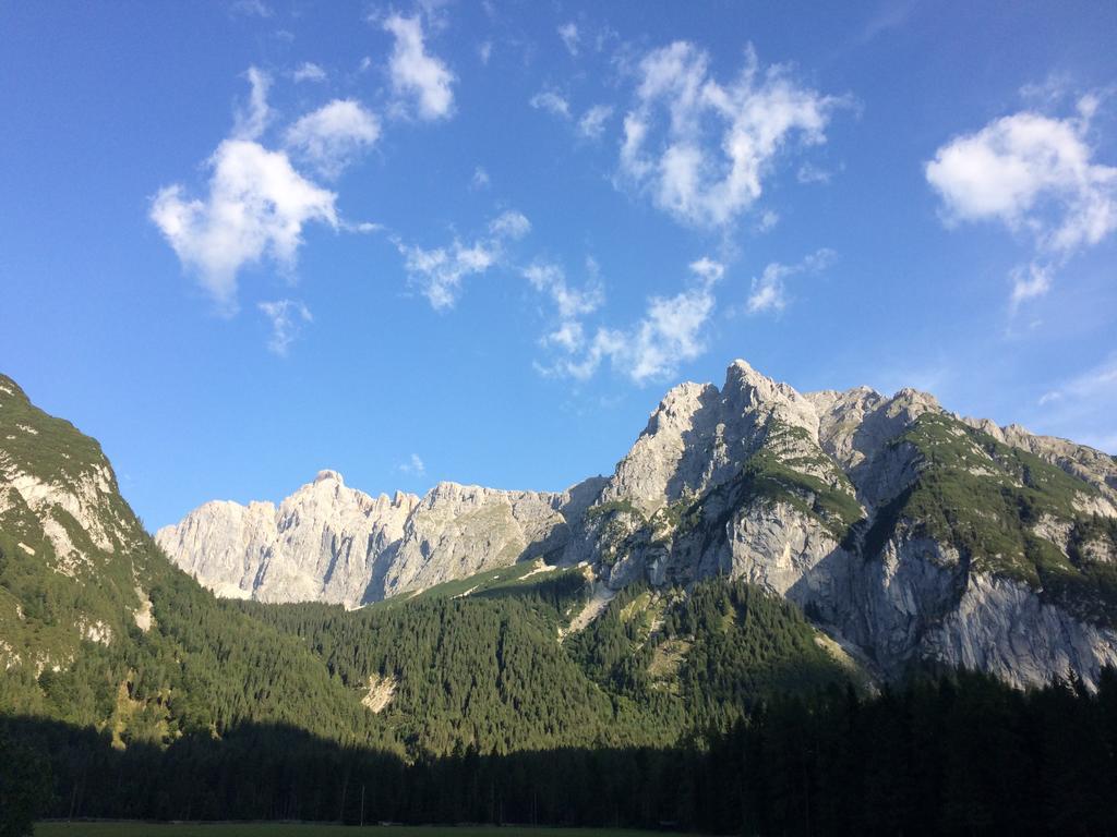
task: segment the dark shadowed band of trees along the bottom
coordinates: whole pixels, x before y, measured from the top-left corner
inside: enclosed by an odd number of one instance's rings
[[[2,729],[9,748],[47,754],[54,792],[42,812],[52,817],[1117,831],[1113,671],[1096,694],[1073,680],[1021,692],[965,673],[869,698],[832,686],[770,699],[727,730],[669,748],[468,748],[413,763],[276,725],[124,751],[58,722],[8,718]]]

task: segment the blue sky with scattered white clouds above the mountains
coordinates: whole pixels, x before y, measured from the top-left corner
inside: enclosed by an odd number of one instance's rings
[[[976,8],[972,8],[976,7]],[[744,357],[1117,452],[1113,3],[0,2],[0,369],[151,527]]]

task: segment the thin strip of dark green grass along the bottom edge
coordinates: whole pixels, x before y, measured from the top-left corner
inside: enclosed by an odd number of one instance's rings
[[[40,822],[35,837],[647,837],[648,831],[517,826],[335,826],[286,822]]]

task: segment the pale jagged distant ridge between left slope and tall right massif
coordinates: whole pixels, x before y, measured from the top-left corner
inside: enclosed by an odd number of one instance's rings
[[[561,552],[593,481],[563,493],[443,482],[371,497],[322,471],[278,507],[206,503],[156,542],[220,596],[357,607]]]

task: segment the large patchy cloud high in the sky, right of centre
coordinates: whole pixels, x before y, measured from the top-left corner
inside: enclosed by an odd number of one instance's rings
[[[825,142],[841,99],[801,87],[779,66],[761,71],[750,49],[723,85],[687,41],[649,52],[624,116],[620,175],[678,221],[724,227],[761,196],[777,155],[794,141]]]

